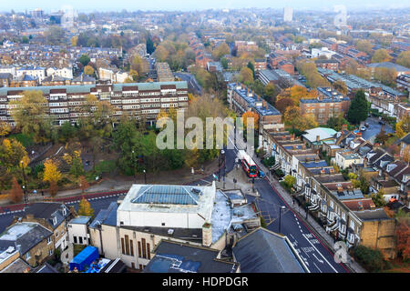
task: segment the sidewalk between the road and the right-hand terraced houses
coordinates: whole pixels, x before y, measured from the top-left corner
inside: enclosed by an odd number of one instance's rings
[[[259,162],[256,158],[254,158],[254,161],[256,164],[264,171],[264,173],[267,173],[266,178],[273,186],[273,188],[278,192],[279,196],[282,197],[282,199],[286,202],[286,204],[295,212],[297,215],[300,216],[301,220],[313,231],[315,236],[318,236],[320,240],[323,242],[323,244],[332,250],[333,253],[336,252],[334,249],[334,239],[332,236],[330,236],[326,231],[323,229],[322,226],[320,226],[312,216],[308,215],[308,218],[305,219],[306,217],[306,211],[301,207],[298,206],[296,203],[293,204],[293,198],[292,196],[281,186],[279,181],[277,181],[275,178],[272,177],[271,172],[268,170],[266,166],[263,166],[261,162]],[[355,273],[367,273],[362,266],[357,264],[356,262],[350,262],[348,264],[344,264],[345,266],[348,266],[353,272]]]

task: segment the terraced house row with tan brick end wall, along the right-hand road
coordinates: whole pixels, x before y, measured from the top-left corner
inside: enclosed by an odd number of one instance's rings
[[[395,219],[376,208],[350,180],[335,173],[319,156],[287,131],[263,130],[263,149],[275,157],[273,169],[296,178],[294,198],[306,203],[309,213],[335,240],[346,246],[377,247],[395,257]]]

